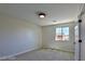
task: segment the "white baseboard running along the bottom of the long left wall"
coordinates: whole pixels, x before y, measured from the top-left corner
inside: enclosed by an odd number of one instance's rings
[[[15,53],[15,54],[11,54],[11,55],[5,55],[5,56],[2,56],[0,57],[0,60],[5,60],[5,59],[16,59],[15,56],[16,55],[19,55],[19,54],[23,54],[23,53],[26,53],[26,52],[29,52],[29,51],[33,51],[33,50],[37,50],[39,48],[33,48],[33,49],[30,49],[30,50],[26,50],[26,51],[23,51],[23,52],[18,52],[18,53]]]

